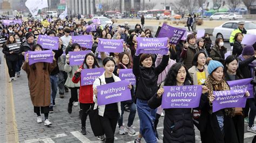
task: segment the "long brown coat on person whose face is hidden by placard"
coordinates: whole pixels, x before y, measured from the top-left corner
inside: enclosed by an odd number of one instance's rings
[[[35,63],[36,69],[32,69],[28,62],[24,62],[22,69],[26,71],[29,80],[29,91],[33,106],[45,107],[51,104],[51,83],[50,73],[56,67],[56,61],[46,63],[46,70],[43,69],[44,63]]]

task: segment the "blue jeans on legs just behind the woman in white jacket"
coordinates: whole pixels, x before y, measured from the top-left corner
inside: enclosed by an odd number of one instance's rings
[[[122,114],[120,116],[120,118],[118,118],[118,125],[119,127],[120,126],[123,126],[123,115],[124,115],[124,106],[126,105],[126,102],[121,102],[121,110],[122,110]],[[128,124],[127,126],[132,126],[133,124],[133,120],[135,118],[135,115],[136,115],[136,105],[134,104],[134,102],[130,103],[130,104],[127,104],[130,108],[130,114],[129,114],[129,117],[128,117]]]

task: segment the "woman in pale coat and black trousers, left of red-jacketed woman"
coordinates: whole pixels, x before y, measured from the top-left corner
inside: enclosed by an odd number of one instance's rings
[[[77,43],[71,45],[71,49],[73,52],[81,51],[81,46]],[[78,106],[78,95],[77,90],[80,87],[80,83],[73,83],[72,77],[79,69],[79,66],[70,66],[69,65],[69,54],[66,55],[66,64],[64,66],[64,70],[68,73],[68,78],[66,79],[65,86],[71,90],[71,97],[69,99],[68,112],[72,113],[72,106]],[[80,107],[81,109],[81,107]]]

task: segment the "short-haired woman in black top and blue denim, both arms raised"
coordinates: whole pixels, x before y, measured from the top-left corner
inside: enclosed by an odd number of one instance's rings
[[[134,47],[137,49],[137,43]],[[167,47],[170,48],[170,45]],[[161,63],[154,67],[152,54],[133,56],[132,71],[136,77],[136,105],[140,122],[140,133],[134,142],[140,142],[142,137],[146,142],[157,142],[153,125],[157,110],[151,109],[147,102],[157,92],[158,75],[168,65],[168,61],[169,54],[163,55]]]

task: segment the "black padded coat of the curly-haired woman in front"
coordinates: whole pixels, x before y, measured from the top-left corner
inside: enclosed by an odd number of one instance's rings
[[[188,81],[184,85],[190,85]],[[156,109],[161,105],[162,98],[155,94],[149,101],[149,107]],[[203,102],[202,102],[203,101]],[[199,108],[207,101],[207,95],[202,94]],[[164,142],[196,142],[191,108],[165,109]]]

